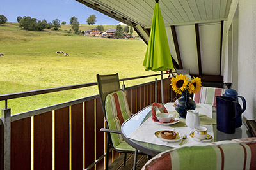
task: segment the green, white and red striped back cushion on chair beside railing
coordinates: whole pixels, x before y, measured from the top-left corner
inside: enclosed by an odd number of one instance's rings
[[[105,102],[109,129],[120,130],[122,123],[131,117],[127,98],[122,90],[108,94]],[[121,134],[111,133],[113,146],[118,146],[123,138]]]

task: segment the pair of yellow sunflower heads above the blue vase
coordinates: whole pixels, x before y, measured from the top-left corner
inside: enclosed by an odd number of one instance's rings
[[[171,79],[173,91],[182,94],[184,90],[188,90],[189,94],[197,93],[202,86],[201,79],[198,77],[191,78],[189,75],[179,74]]]

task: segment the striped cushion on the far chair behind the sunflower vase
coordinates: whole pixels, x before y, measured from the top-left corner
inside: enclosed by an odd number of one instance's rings
[[[222,96],[225,89],[215,87],[201,87],[200,91],[194,94],[195,103],[211,104],[216,106],[216,97]]]

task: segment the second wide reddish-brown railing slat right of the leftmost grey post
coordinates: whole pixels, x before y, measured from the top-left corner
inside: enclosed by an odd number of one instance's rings
[[[52,111],[34,116],[34,169],[52,169]]]

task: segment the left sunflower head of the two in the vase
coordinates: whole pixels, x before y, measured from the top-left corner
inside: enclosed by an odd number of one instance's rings
[[[173,91],[179,94],[182,94],[182,91],[187,88],[187,85],[189,83],[188,78],[186,78],[186,76],[184,76],[183,74],[172,77],[171,81],[172,83],[170,85],[172,85]]]

